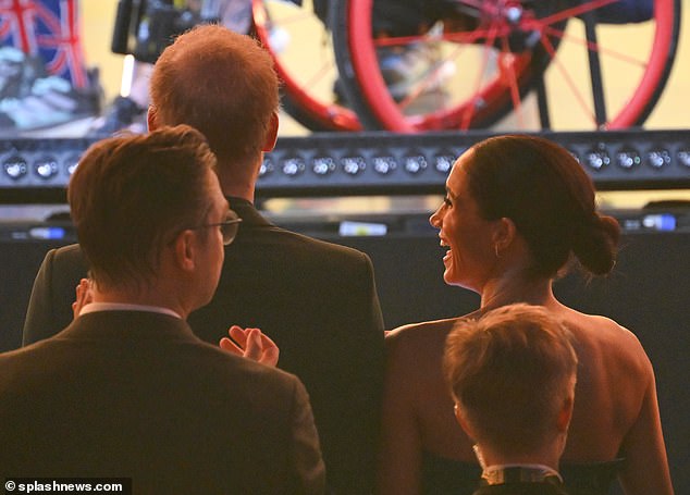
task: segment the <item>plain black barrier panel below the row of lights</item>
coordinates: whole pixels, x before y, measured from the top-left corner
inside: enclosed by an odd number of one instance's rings
[[[443,250],[433,233],[329,240],[369,253],[389,329],[478,306],[475,294],[443,283]],[[35,273],[46,251],[59,244],[0,242],[0,350],[20,346]],[[557,283],[556,293],[565,304],[611,317],[640,338],[656,371],[676,493],[690,493],[690,232],[626,234],[609,277],[588,283],[570,275]]]

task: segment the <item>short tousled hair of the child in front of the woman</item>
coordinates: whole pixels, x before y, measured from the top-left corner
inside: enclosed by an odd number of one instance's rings
[[[443,367],[475,440],[519,455],[555,437],[577,362],[568,330],[544,308],[519,304],[459,321]]]

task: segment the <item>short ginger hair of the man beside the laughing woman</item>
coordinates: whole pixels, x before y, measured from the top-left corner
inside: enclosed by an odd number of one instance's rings
[[[192,125],[206,136],[221,166],[246,166],[264,145],[279,108],[279,83],[257,40],[199,25],[160,55],[150,96],[160,124]]]

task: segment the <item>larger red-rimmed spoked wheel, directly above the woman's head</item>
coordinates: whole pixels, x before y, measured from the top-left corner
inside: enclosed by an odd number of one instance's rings
[[[343,86],[369,128],[488,127],[506,113],[517,117],[504,125],[540,128],[544,120],[534,115],[544,108],[537,110],[534,99],[525,96],[542,82],[539,103],[558,102],[550,109],[551,128],[639,125],[658,100],[673,65],[680,0],[655,0],[643,22],[603,22],[601,9],[615,2],[445,1],[447,14],[431,29],[382,37],[372,28],[374,0],[336,0],[332,29]],[[405,53],[420,46],[433,46],[435,59],[404,98],[394,97],[381,69],[382,51]],[[410,110],[419,95],[440,85],[434,72],[447,64],[456,70],[441,84],[443,98]]]

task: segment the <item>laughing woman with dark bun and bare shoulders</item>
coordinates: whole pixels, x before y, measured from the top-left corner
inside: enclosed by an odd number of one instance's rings
[[[489,138],[455,162],[430,221],[447,248],[445,282],[478,293],[481,305],[386,337],[380,493],[463,495],[477,487],[481,470],[444,382],[444,344],[458,320],[526,302],[544,307],[575,337],[579,378],[562,458],[569,493],[605,494],[617,475],[627,495],[673,494],[644,349],[628,330],[564,306],[552,289],[571,261],[603,275],[616,260],[618,223],[596,211],[577,160],[540,137]]]

